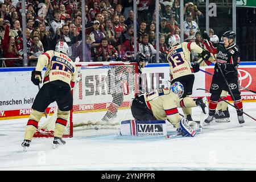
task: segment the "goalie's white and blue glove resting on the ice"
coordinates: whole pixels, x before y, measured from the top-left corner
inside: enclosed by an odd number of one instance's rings
[[[194,137],[197,128],[197,123],[195,121],[188,121],[184,117],[180,120],[180,127],[177,129],[183,137]]]

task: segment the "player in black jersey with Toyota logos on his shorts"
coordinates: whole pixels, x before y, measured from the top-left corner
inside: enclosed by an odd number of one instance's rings
[[[209,40],[207,33],[203,34],[203,39]],[[240,50],[237,44],[234,43],[235,39],[236,34],[233,31],[226,31],[222,35],[223,43],[212,44],[209,42],[210,48],[207,47],[207,49],[213,51],[213,54],[216,54],[216,64],[214,67],[212,84],[210,85],[211,96],[209,101],[209,116],[205,119],[206,123],[213,121],[222,90],[226,90],[230,95],[230,91],[232,92],[235,100],[234,105],[237,107],[238,122],[240,124],[245,122],[242,113],[243,105],[237,72],[237,68],[240,64]],[[220,69],[224,76],[222,76]],[[228,85],[224,79],[228,81]]]

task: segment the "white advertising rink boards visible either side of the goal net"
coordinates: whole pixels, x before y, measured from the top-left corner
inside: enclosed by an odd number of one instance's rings
[[[243,62],[238,68],[240,85],[250,90],[256,90],[256,63]],[[213,73],[213,65],[200,67],[204,71]],[[38,93],[38,86],[32,84],[30,68],[0,68],[0,119],[24,118],[31,113],[31,106]],[[45,70],[44,70],[45,71]],[[44,74],[43,71],[43,74]],[[170,86],[170,72],[168,64],[148,64],[142,69],[142,92],[151,92],[156,88],[166,88]],[[193,86],[193,97],[209,96],[203,90],[197,88],[210,88],[212,76],[204,72],[195,73],[195,83]],[[42,85],[41,85],[42,86]],[[256,101],[256,94],[241,90],[243,102]],[[105,100],[105,96],[97,96]],[[229,100],[231,98],[229,97]],[[47,108],[47,113],[53,113],[56,103],[52,103]],[[93,110],[92,110],[93,111]]]

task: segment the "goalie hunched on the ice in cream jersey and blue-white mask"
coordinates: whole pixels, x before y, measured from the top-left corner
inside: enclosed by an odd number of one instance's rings
[[[156,89],[134,98],[131,113],[135,121],[164,122],[168,120],[183,137],[194,137],[197,123],[181,118],[177,107],[180,107],[180,98],[183,96],[184,87],[180,82],[174,82],[171,88]],[[185,99],[183,100],[185,102]],[[187,107],[195,107],[189,105]],[[121,126],[122,127],[122,126]]]

